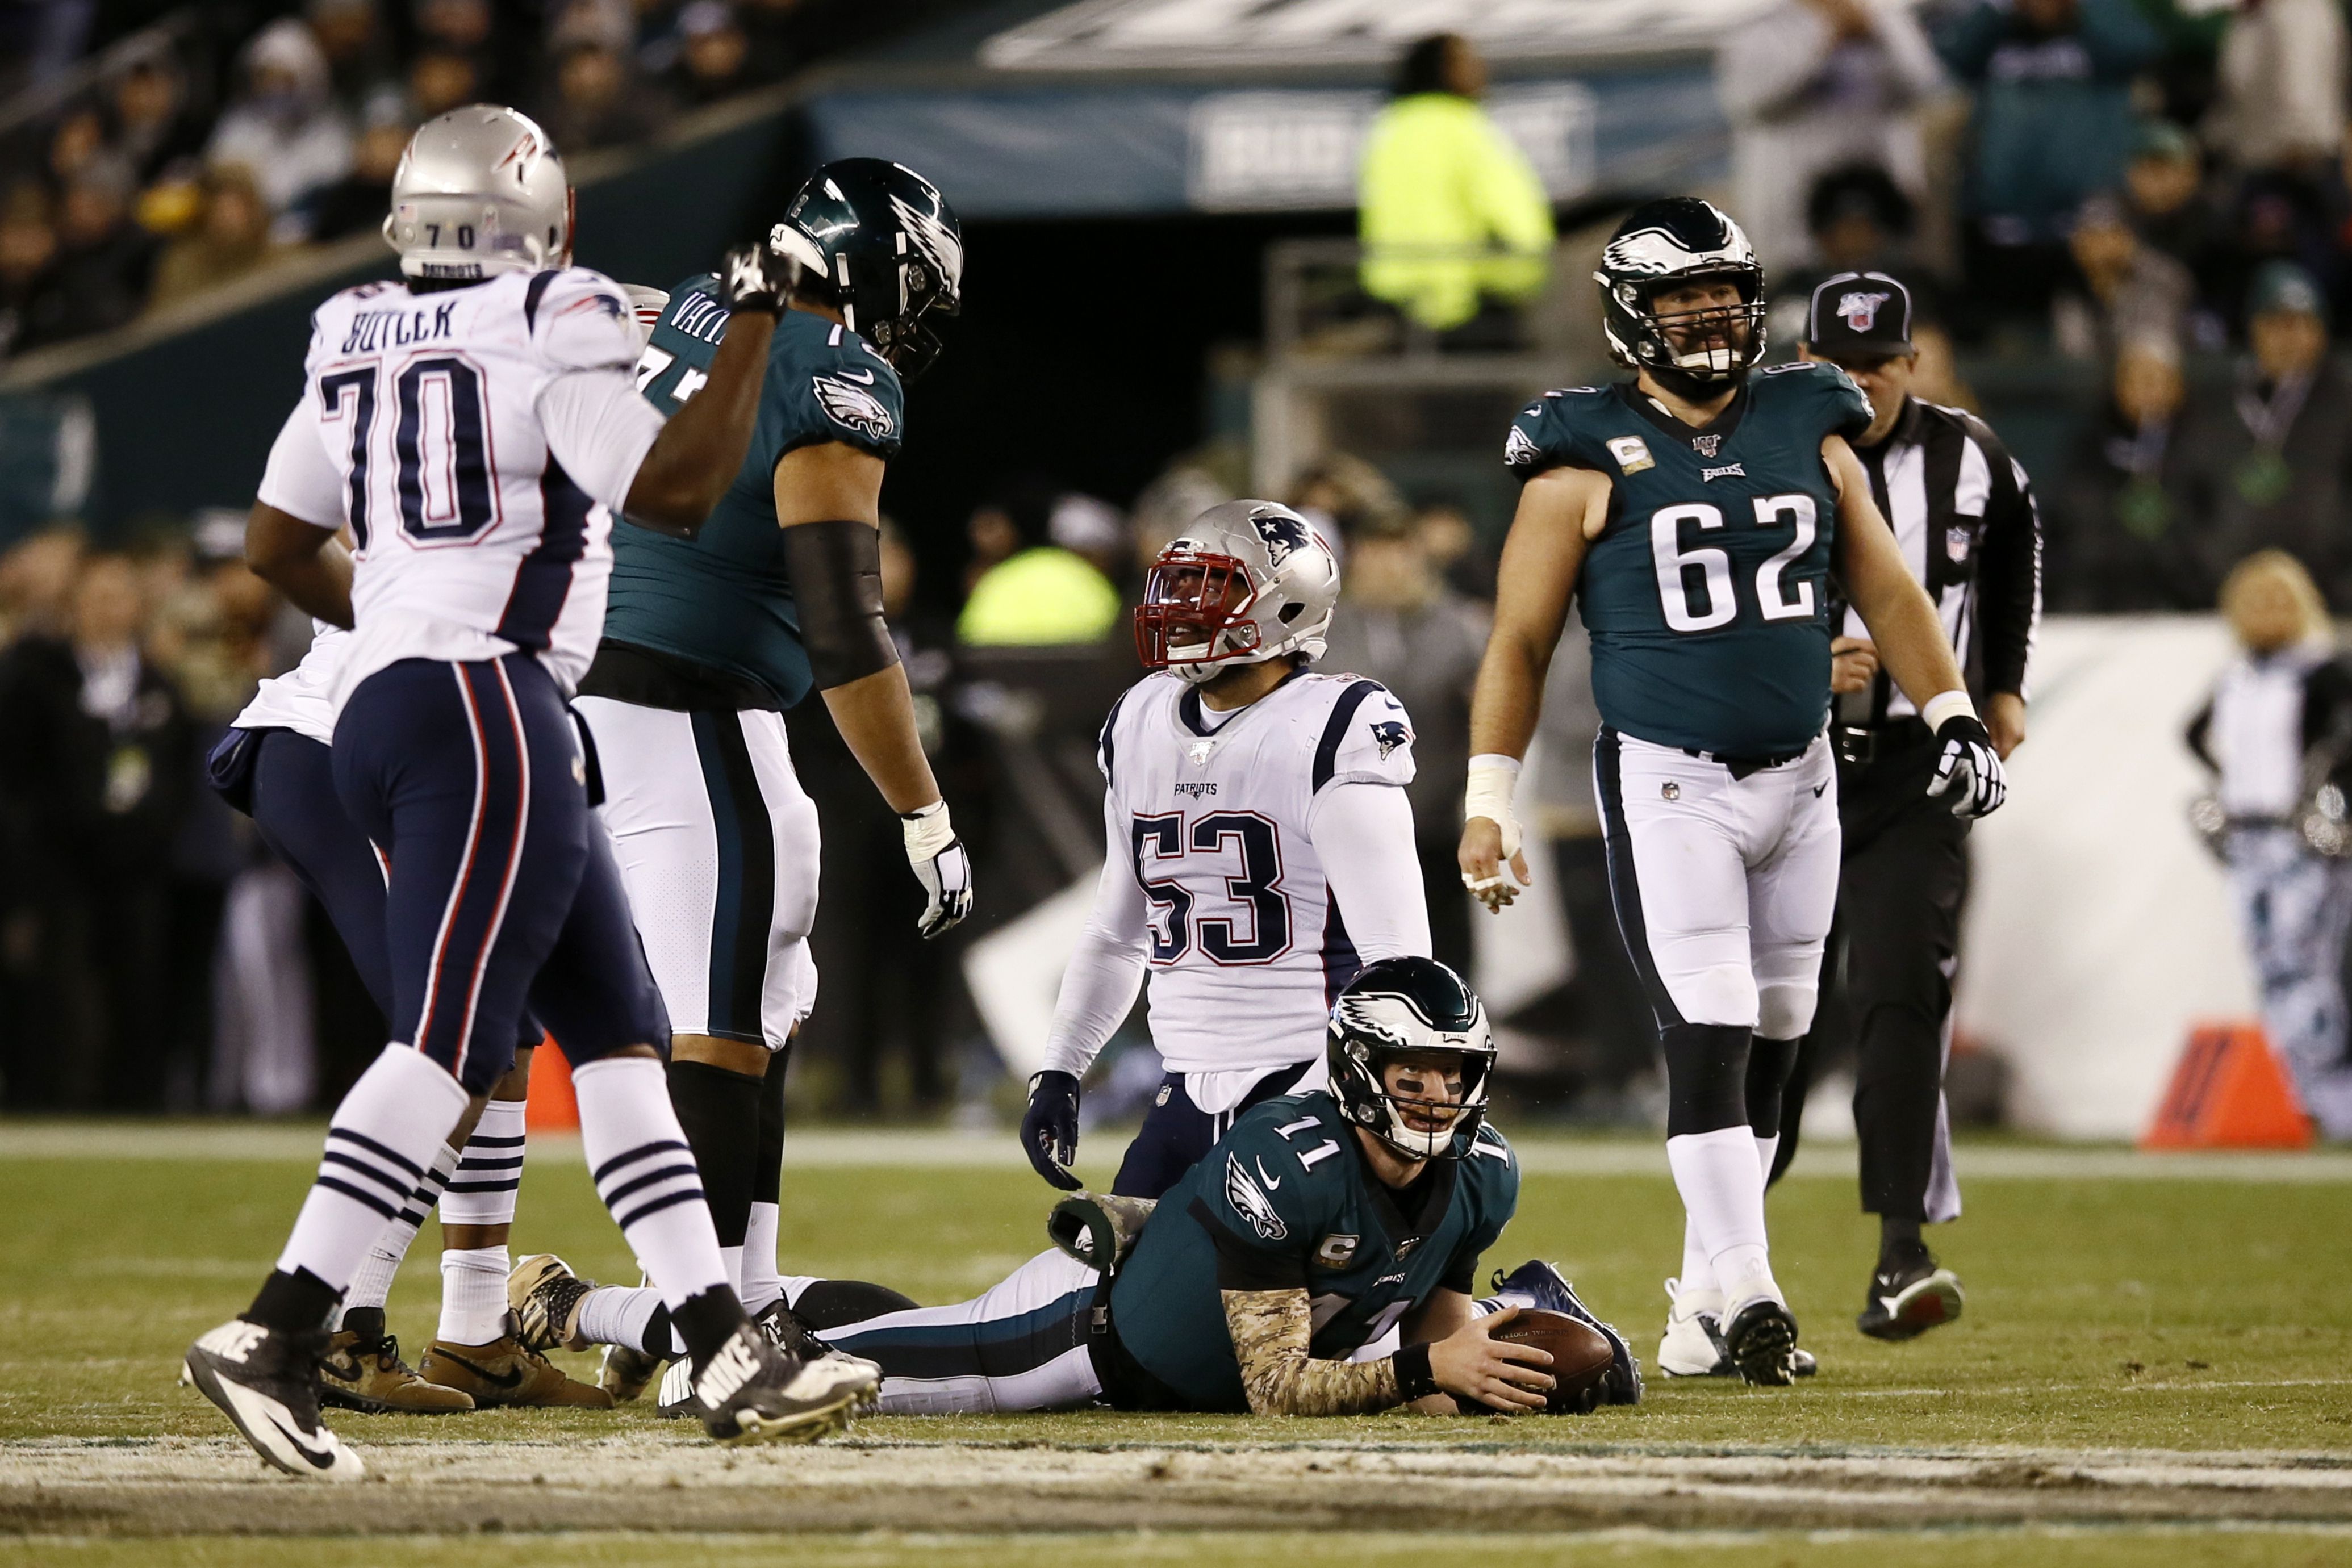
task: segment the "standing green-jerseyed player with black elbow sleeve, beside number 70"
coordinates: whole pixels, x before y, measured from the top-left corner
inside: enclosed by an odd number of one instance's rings
[[[614,538],[612,604],[579,712],[604,780],[602,818],[670,1013],[670,1103],[701,1168],[746,1309],[788,1349],[795,1324],[866,1316],[903,1298],[786,1302],[776,1269],[783,1074],[816,997],[816,806],[793,773],[783,710],[821,691],[875,788],[906,823],[927,891],[922,933],[971,912],[971,860],[948,825],[882,621],[882,473],[906,423],[901,378],[931,364],[934,315],[960,306],[955,214],[894,162],[830,162],[771,244],[800,263],[776,324],[750,451],[694,538]],[[637,364],[663,414],[691,407],[727,334],[717,277],[682,282]],[[562,1267],[527,1258],[513,1298]],[[795,1281],[807,1284],[807,1281]],[[602,1382],[635,1399],[673,1354],[659,1291],[604,1295],[583,1324],[609,1345]]]

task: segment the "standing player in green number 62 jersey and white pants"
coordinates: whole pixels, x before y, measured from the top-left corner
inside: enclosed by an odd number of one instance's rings
[[[1983,816],[2002,764],[1846,444],[1870,404],[1835,364],[1750,374],[1764,270],[1738,223],[1693,197],[1646,202],[1595,277],[1635,376],[1548,393],[1510,428],[1503,461],[1526,489],[1470,719],[1463,882],[1489,910],[1517,891],[1505,863],[1529,882],[1510,790],[1576,595],[1609,882],[1665,1046],[1686,1211],[1658,1363],[1705,1375],[1729,1359],[1785,1385],[1797,1319],[1771,1272],[1764,1175],[1837,903],[1832,564],[1938,736],[1929,792]]]

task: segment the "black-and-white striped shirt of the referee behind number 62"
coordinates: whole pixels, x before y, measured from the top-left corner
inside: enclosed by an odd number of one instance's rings
[[[1978,705],[1994,691],[2025,696],[2025,665],[2042,625],[2042,512],[2025,468],[1985,421],[1907,397],[1877,447],[1856,444],[1879,503]],[[1844,635],[1867,637],[1842,607]],[[1910,698],[1882,670],[1870,691],[1837,698],[1839,724],[1912,717]]]

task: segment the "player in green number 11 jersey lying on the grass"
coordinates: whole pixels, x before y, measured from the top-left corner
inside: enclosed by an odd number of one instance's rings
[[[1550,1356],[1491,1338],[1517,1307],[1470,1300],[1519,1199],[1484,1121],[1477,997],[1435,959],[1369,964],[1327,1053],[1329,1088],[1242,1112],[1157,1206],[1129,1208],[1150,1218],[1112,1276],[1049,1251],[976,1300],[823,1338],[882,1363],[894,1413],[1543,1408]],[[1404,1349],[1350,1359],[1390,1328]]]

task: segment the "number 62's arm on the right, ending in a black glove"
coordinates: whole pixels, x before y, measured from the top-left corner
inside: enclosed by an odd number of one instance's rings
[[[1846,599],[1870,628],[1877,661],[1943,741],[1929,795],[1947,797],[1957,816],[1999,811],[2009,795],[2002,759],[1985,722],[1976,717],[1976,703],[1969,701],[1966,679],[1952,656],[1952,642],[1943,635],[1943,621],[1936,618],[1936,604],[1903,564],[1903,548],[1870,498],[1870,480],[1846,437],[1823,437],[1820,458],[1837,487],[1839,574],[1846,581]]]

